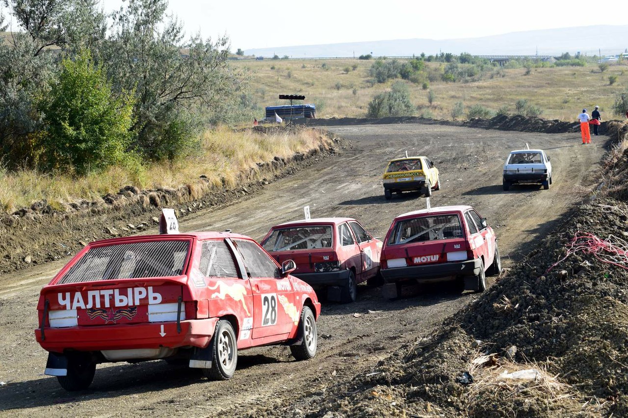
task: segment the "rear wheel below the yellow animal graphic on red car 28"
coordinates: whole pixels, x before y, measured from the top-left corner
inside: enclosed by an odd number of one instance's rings
[[[237,366],[237,340],[229,321],[220,319],[216,324],[212,345],[212,368],[203,368],[203,375],[212,380],[228,380]]]

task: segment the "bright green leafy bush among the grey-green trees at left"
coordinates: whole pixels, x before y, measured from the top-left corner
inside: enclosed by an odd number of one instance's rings
[[[127,158],[134,100],[112,94],[89,51],[61,63],[58,82],[40,103],[45,115],[43,166],[77,174],[100,171]]]

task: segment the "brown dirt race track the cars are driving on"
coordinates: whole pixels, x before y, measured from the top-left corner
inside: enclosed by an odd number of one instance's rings
[[[488,218],[499,239],[504,267],[521,259],[535,237],[548,231],[598,178],[606,137],[583,146],[578,134],[538,134],[463,127],[389,124],[328,127],[352,146],[266,186],[246,200],[190,215],[182,232],[224,230],[263,237],[272,225],[303,217],[349,216],[377,237],[399,213],[425,208],[416,193],[386,201],[381,173],[389,158],[427,155],[440,169],[441,190],[431,205],[465,203]],[[541,147],[551,158],[553,185],[502,191],[502,164],[511,149]],[[163,361],[99,365],[94,383],[69,393],[43,375],[46,352],[35,342],[36,301],[41,287],[63,265],[54,262],[0,277],[0,415],[3,416],[264,416],[279,404],[320,395],[338,381],[369,373],[403,343],[430,334],[444,318],[469,303],[470,292],[444,287],[398,301],[360,285],[354,304],[324,304],[318,321],[318,353],[295,362],[284,347],[242,351],[232,380],[209,382],[197,370]],[[355,313],[359,315],[354,315]]]

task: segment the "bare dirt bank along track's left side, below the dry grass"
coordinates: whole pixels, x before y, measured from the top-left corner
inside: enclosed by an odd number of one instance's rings
[[[267,133],[276,129],[257,130]],[[29,208],[0,216],[0,273],[76,254],[93,240],[154,230],[163,207],[175,208],[181,218],[208,206],[246,199],[269,181],[308,166],[312,157],[325,158],[346,146],[347,141],[334,139],[328,148],[320,146],[288,159],[275,157],[241,173],[235,189],[211,185],[206,176],[200,176],[177,189],[124,186],[116,194],[102,196],[102,200],[68,203],[63,210],[53,210],[45,200],[35,202]]]

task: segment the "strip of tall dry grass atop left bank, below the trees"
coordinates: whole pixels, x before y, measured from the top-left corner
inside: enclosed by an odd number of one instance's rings
[[[207,176],[212,185],[221,185],[224,179],[227,186],[233,186],[241,173],[256,168],[257,163],[271,161],[275,156],[288,158],[321,144],[328,144],[327,137],[313,130],[259,134],[221,127],[203,134],[197,156],[156,164],[139,173],[120,167],[82,178],[52,176],[33,170],[0,172],[0,212],[12,213],[44,199],[53,208],[60,209],[62,203],[101,200],[102,196],[117,193],[126,185],[141,190],[184,185],[193,188],[201,175]]]

